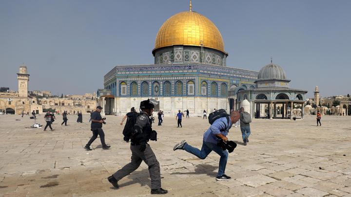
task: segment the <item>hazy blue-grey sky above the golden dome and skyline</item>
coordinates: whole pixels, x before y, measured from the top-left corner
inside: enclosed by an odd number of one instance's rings
[[[351,93],[351,0],[193,0],[221,32],[227,66],[283,67],[290,87]],[[82,94],[116,65],[152,64],[163,22],[189,0],[0,0],[0,86]]]

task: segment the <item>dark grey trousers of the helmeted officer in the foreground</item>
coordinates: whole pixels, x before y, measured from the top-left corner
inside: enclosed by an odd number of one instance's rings
[[[120,180],[123,177],[134,172],[141,164],[141,161],[144,161],[149,166],[149,174],[151,178],[151,189],[161,188],[161,173],[159,162],[156,159],[154,152],[152,151],[149,144],[146,144],[146,149],[144,152],[141,152],[140,145],[132,145],[132,158],[131,162],[118,170],[113,176],[115,179]]]

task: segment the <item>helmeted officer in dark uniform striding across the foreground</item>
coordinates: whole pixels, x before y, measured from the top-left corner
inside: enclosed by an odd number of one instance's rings
[[[155,103],[156,104],[156,103]],[[156,156],[147,143],[154,132],[151,128],[152,120],[149,118],[154,112],[154,101],[145,100],[140,103],[140,115],[134,125],[134,132],[131,137],[132,161],[118,170],[115,174],[108,177],[108,181],[118,188],[117,181],[135,171],[144,161],[149,166],[151,178],[151,194],[167,194],[168,191],[161,188],[160,166]],[[155,140],[155,139],[152,139]]]

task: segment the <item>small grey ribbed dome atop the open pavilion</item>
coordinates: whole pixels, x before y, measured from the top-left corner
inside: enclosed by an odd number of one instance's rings
[[[284,70],[276,64],[268,64],[258,72],[258,79],[286,79]]]

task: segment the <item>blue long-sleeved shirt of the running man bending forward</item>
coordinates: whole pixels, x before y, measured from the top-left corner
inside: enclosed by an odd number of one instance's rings
[[[216,137],[216,134],[222,133],[222,135],[227,136],[229,129],[232,127],[232,121],[229,118],[229,125],[226,117],[223,118],[218,118],[215,120],[215,122],[210,126],[209,129],[204,133],[204,138],[203,140],[205,142],[209,143],[215,143],[217,144],[218,138]],[[227,128],[225,131],[221,131]]]

